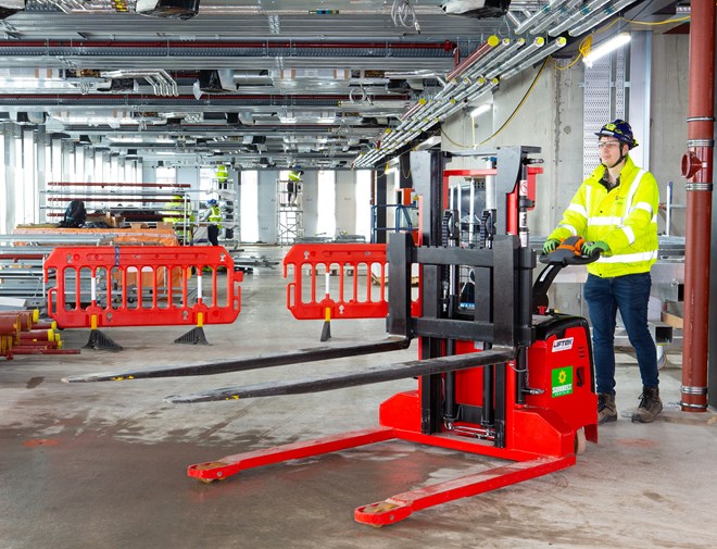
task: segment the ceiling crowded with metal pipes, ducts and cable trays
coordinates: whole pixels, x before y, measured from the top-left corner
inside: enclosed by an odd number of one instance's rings
[[[0,20],[5,124],[150,163],[368,167],[521,66],[575,55],[620,10],[664,21],[684,4],[527,0],[475,17],[438,0],[201,0],[181,20],[142,1],[0,0],[21,8]]]

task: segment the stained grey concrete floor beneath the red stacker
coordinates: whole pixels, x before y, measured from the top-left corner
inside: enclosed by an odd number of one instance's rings
[[[276,248],[246,254],[279,257]],[[661,421],[620,417],[575,467],[415,513],[376,529],[355,507],[500,461],[383,442],[202,484],[188,464],[373,427],[378,404],[413,379],[311,396],[167,404],[203,388],[301,377],[415,358],[407,351],[330,364],[127,382],[73,384],[125,366],[199,363],[319,345],[323,323],[286,311],[280,269],[242,284],[242,312],[207,326],[211,347],[178,346],[184,328],[114,328],[118,353],[0,362],[0,549],[79,548],[681,548],[717,538],[717,422],[683,414],[679,355],[662,372]],[[334,342],[385,337],[383,321],[331,324]],[[65,330],[68,347],[87,330]],[[634,361],[619,354],[618,405],[637,405]]]

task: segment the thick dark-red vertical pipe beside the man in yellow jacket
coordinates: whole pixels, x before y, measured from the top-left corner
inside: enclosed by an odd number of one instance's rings
[[[707,410],[709,247],[715,129],[715,1],[693,0],[690,22],[690,96],[684,244],[684,328],[682,388],[684,412]]]

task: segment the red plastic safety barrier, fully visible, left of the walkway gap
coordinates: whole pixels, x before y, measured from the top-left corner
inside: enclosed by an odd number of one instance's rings
[[[229,324],[241,305],[242,273],[221,246],[58,247],[45,262],[52,279],[48,314],[61,328]]]

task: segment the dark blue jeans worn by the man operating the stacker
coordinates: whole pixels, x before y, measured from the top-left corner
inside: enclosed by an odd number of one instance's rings
[[[599,394],[615,395],[615,324],[619,309],[630,345],[634,347],[642,385],[657,387],[657,351],[647,327],[650,273],[601,278],[589,274],[584,286]]]

